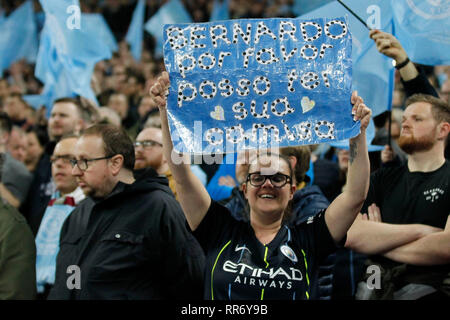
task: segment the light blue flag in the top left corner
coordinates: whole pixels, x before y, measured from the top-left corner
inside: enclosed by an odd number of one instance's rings
[[[0,20],[0,75],[20,59],[36,62],[38,36],[32,2],[26,1]]]

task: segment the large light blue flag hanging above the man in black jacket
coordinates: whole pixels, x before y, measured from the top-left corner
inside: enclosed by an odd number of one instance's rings
[[[35,75],[45,84],[42,99],[48,112],[60,97],[79,95],[97,103],[90,82],[95,64],[111,57],[108,44],[98,30],[83,24],[78,0],[40,2],[46,19]]]

